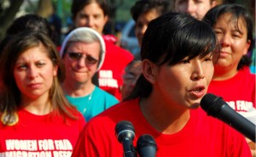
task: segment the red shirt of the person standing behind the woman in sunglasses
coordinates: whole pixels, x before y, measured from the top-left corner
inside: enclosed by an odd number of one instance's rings
[[[103,36],[104,38],[104,36]],[[129,51],[119,48],[104,38],[106,55],[101,70],[98,71],[99,87],[121,100],[120,87],[123,85],[122,75],[127,64],[134,59]]]

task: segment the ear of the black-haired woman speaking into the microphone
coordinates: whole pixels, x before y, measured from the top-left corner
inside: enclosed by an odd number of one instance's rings
[[[148,59],[143,60],[143,76],[152,84],[156,81],[157,66]]]

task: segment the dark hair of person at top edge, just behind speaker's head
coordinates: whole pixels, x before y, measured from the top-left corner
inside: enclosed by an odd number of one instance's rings
[[[139,0],[131,7],[132,19],[137,21],[141,14],[145,14],[151,9],[155,9],[158,14],[166,14],[172,10],[169,0]]]

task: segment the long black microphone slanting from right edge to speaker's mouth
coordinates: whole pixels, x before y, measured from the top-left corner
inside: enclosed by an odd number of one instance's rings
[[[245,117],[232,109],[229,104],[225,103],[221,97],[212,93],[207,93],[201,99],[201,108],[207,112],[207,115],[218,118],[220,121],[230,125],[238,132],[249,138],[255,143],[255,125]]]

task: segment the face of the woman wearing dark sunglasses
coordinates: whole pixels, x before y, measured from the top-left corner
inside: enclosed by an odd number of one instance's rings
[[[65,81],[73,84],[84,84],[96,73],[100,56],[99,42],[72,42],[65,53]]]

